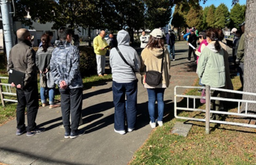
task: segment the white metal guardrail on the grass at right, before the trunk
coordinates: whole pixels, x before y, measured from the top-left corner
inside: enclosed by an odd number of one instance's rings
[[[189,95],[177,94],[177,89],[178,88],[183,88],[183,89],[205,89],[206,96],[189,96]],[[228,99],[228,98],[222,98],[222,97],[211,97],[210,96],[210,90],[217,90],[217,91],[221,91],[221,92],[238,93],[238,94],[243,94],[243,95],[256,96],[256,93],[241,92],[241,91],[235,91],[235,90],[229,90],[229,89],[220,89],[220,88],[210,88],[210,86],[205,86],[205,87],[200,87],[200,86],[175,86],[174,87],[174,116],[175,116],[175,118],[206,122],[206,134],[210,133],[210,123],[229,124],[229,125],[236,125],[236,126],[242,126],[242,127],[256,128],[256,125],[254,125],[254,124],[244,124],[244,123],[235,123],[235,122],[229,122],[229,121],[210,120],[210,113],[235,115],[235,116],[240,116],[240,117],[255,117],[256,118],[256,115],[248,114],[248,103],[256,103],[256,101]],[[177,97],[187,98],[187,107],[177,107]],[[202,99],[202,98],[206,99],[206,108],[205,108],[205,110],[196,108],[196,99]],[[189,99],[193,99],[193,108],[189,108]],[[237,102],[238,103],[238,112],[234,113],[234,112],[224,112],[224,111],[210,110],[211,100]],[[240,113],[240,103],[245,103],[245,113]],[[199,119],[199,118],[195,118],[195,117],[182,117],[182,116],[178,116],[178,113],[177,113],[178,110],[200,111],[200,112],[204,112],[206,114],[205,114],[204,119]]]

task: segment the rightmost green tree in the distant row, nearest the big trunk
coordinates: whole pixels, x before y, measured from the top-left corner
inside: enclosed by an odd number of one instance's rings
[[[230,10],[230,28],[239,28],[238,24],[245,21],[245,5],[236,3]]]

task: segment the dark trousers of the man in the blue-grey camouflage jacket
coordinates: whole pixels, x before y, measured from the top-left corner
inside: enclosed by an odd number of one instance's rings
[[[82,113],[82,88],[59,89],[62,121],[66,132],[77,132]],[[70,124],[71,113],[71,124]]]

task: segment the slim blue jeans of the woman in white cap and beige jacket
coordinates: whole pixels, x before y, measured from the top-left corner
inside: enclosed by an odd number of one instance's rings
[[[152,123],[156,122],[155,118],[155,104],[157,100],[157,107],[158,107],[158,117],[157,121],[163,121],[164,117],[164,90],[165,88],[153,88],[147,89],[148,96],[149,96],[149,117]]]

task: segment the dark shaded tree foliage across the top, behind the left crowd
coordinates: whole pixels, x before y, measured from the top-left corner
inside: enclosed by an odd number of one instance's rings
[[[171,0],[15,0],[16,20],[32,25],[33,21],[54,22],[53,29],[69,25],[75,29],[127,29],[164,27],[171,18]],[[133,39],[133,38],[131,38]]]

